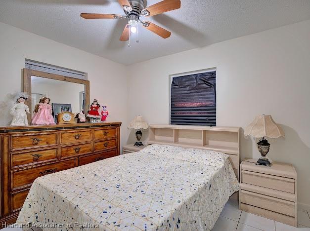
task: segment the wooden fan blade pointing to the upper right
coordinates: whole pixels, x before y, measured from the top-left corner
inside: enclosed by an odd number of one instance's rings
[[[145,16],[153,16],[181,7],[180,0],[163,0],[142,10]]]

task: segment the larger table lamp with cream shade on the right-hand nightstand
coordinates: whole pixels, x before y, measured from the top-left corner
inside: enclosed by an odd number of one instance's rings
[[[270,144],[265,137],[273,139],[284,137],[282,128],[274,122],[270,115],[259,115],[244,129],[244,135],[261,138],[257,143],[257,147],[262,157],[259,158],[256,164],[270,166],[271,163],[266,157],[270,149]]]

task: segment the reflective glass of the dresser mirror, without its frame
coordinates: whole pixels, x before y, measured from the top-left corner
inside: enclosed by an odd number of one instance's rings
[[[32,116],[40,98],[50,98],[52,104],[70,104],[72,113],[84,111],[85,85],[56,79],[31,76],[31,108]]]

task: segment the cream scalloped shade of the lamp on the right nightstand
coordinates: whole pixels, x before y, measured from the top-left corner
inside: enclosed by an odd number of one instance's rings
[[[270,115],[259,115],[244,129],[244,135],[251,135],[255,138],[266,136],[275,139],[284,137],[284,131]]]

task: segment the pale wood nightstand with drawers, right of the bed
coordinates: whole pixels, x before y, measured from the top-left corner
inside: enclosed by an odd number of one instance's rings
[[[297,174],[291,164],[240,165],[239,209],[297,227]]]

